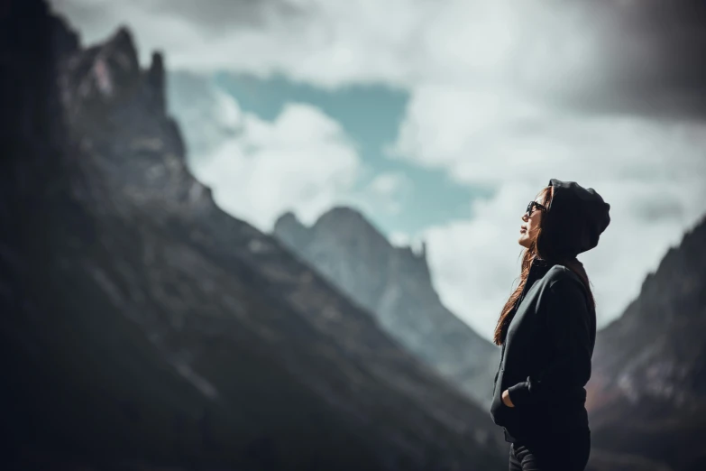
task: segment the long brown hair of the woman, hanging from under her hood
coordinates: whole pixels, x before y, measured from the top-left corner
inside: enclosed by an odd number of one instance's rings
[[[546,187],[545,189],[542,189],[537,196],[541,197],[542,204],[545,208],[550,208],[552,198],[554,198],[554,187]],[[543,215],[542,220],[539,223],[539,227],[537,227],[536,235],[529,243],[529,248],[524,249],[524,253],[522,254],[522,270],[519,275],[518,287],[512,292],[512,294],[510,294],[509,299],[505,302],[505,306],[502,307],[502,310],[500,311],[500,319],[498,319],[498,324],[495,326],[495,335],[493,336],[493,343],[495,345],[501,345],[505,341],[509,323],[515,315],[515,308],[518,304],[519,297],[522,295],[522,291],[525,289],[525,285],[527,284],[529,269],[537,256],[548,263],[561,263],[566,268],[576,273],[588,291],[591,309],[596,308],[596,301],[593,298],[593,292],[591,291],[591,282],[589,281],[586,271],[583,269],[583,264],[579,262],[576,257],[565,258],[554,256],[554,254],[552,254],[551,245],[547,245],[546,243],[542,244],[542,242],[546,242],[542,240],[542,226],[545,220],[546,217]],[[539,246],[542,247],[541,251],[538,248]]]

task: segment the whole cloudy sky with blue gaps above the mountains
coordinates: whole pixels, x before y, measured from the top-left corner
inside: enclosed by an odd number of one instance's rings
[[[188,162],[269,232],[359,208],[425,240],[445,305],[491,338],[547,182],[610,203],[579,259],[599,327],[706,214],[706,4],[695,0],[53,0],[85,44],[162,51]],[[383,6],[384,5],[384,6]]]

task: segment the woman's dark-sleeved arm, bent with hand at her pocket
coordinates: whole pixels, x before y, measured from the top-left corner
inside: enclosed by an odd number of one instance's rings
[[[515,406],[561,401],[591,378],[591,314],[585,291],[571,278],[552,282],[549,291],[546,326],[553,360],[536,377],[508,388]]]

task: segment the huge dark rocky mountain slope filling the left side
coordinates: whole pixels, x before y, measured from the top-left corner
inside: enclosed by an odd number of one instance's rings
[[[0,15],[3,469],[497,469],[486,411],[188,172],[164,66]]]

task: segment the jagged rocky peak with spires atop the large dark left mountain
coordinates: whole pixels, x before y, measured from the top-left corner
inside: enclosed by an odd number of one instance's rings
[[[116,185],[125,178],[145,183],[133,192],[135,199],[169,191],[166,200],[175,210],[208,207],[210,189],[189,178],[179,126],[167,115],[163,56],[153,52],[147,69],[138,58],[132,33],[120,28],[62,62],[59,82],[70,128],[88,154],[114,156]],[[94,159],[99,162],[105,165]]]

